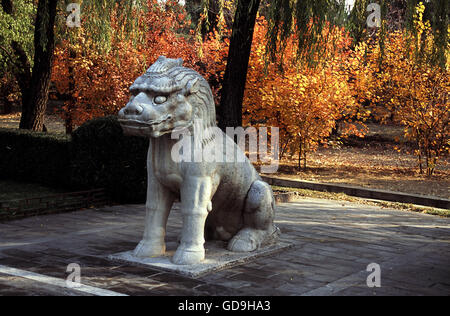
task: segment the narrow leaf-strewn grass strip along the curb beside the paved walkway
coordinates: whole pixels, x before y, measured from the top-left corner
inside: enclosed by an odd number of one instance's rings
[[[358,204],[363,204],[363,205],[378,206],[381,208],[391,208],[391,209],[396,209],[396,210],[410,211],[410,212],[429,214],[429,215],[437,215],[440,217],[450,218],[450,210],[439,209],[439,208],[434,208],[434,207],[427,207],[427,206],[420,206],[420,205],[406,204],[406,203],[397,203],[397,202],[388,202],[388,201],[379,201],[379,200],[367,200],[367,199],[363,199],[363,198],[350,196],[345,193],[322,192],[322,191],[314,191],[314,190],[307,190],[307,189],[280,187],[280,186],[276,186],[276,185],[273,185],[272,189],[275,192],[276,191],[297,192],[297,194],[302,197],[336,200],[336,201],[347,201],[347,202],[353,202],[353,203],[358,203]]]

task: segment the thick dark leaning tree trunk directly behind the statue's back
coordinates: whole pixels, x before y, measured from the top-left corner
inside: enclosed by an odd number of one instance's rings
[[[260,2],[239,0],[237,4],[219,108],[219,127],[224,131],[242,126],[242,102]]]

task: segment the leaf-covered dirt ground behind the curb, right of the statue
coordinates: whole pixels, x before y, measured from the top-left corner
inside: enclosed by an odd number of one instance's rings
[[[297,162],[283,160],[277,176],[450,198],[448,159],[431,178],[419,174],[415,156],[389,148],[321,148],[310,154],[308,164],[298,171]]]

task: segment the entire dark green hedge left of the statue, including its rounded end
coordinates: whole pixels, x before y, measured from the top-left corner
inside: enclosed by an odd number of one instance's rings
[[[72,137],[0,129],[0,178],[70,190],[105,188],[121,203],[146,196],[148,139],[124,136],[115,117],[89,121]]]

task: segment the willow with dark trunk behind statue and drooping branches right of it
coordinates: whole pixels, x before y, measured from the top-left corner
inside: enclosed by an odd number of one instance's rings
[[[247,68],[260,3],[260,0],[238,0],[236,6],[219,108],[219,126],[222,129],[242,125]],[[315,44],[319,42],[325,21],[342,21],[343,12],[344,2],[336,0],[268,2],[268,56],[273,58],[278,52],[282,53],[283,42],[294,29],[298,34],[299,53],[317,49]]]

